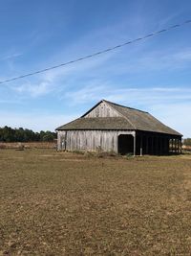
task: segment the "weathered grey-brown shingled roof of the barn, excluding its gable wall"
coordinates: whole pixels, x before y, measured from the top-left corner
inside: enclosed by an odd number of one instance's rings
[[[92,111],[97,105],[104,102],[110,105],[117,111],[119,117],[96,117],[85,118],[90,111]],[[166,133],[171,135],[181,134],[153,117],[151,114],[145,111],[138,110],[136,108],[127,107],[124,105],[117,105],[105,100],[100,101],[93,106],[82,117],[68,123],[62,127],[56,128],[56,130],[69,130],[69,129],[127,129],[127,130],[144,130],[151,132]]]

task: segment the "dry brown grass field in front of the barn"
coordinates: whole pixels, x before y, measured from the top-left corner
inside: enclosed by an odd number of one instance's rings
[[[191,157],[0,151],[0,255],[191,255]]]

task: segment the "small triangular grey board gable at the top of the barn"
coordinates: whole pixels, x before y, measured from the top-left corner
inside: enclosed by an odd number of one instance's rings
[[[120,116],[117,110],[112,108],[110,105],[106,103],[100,103],[96,106],[91,112],[85,115],[85,118],[88,117],[117,117]]]

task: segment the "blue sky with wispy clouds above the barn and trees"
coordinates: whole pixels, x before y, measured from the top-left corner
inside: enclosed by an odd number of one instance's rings
[[[0,81],[191,19],[176,0],[0,1]],[[191,137],[191,25],[0,84],[0,126],[53,130],[101,99],[149,111]]]

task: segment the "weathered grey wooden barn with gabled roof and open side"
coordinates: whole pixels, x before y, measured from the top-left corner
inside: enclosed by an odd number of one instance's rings
[[[181,134],[145,111],[105,100],[57,130],[58,151],[181,152]]]

